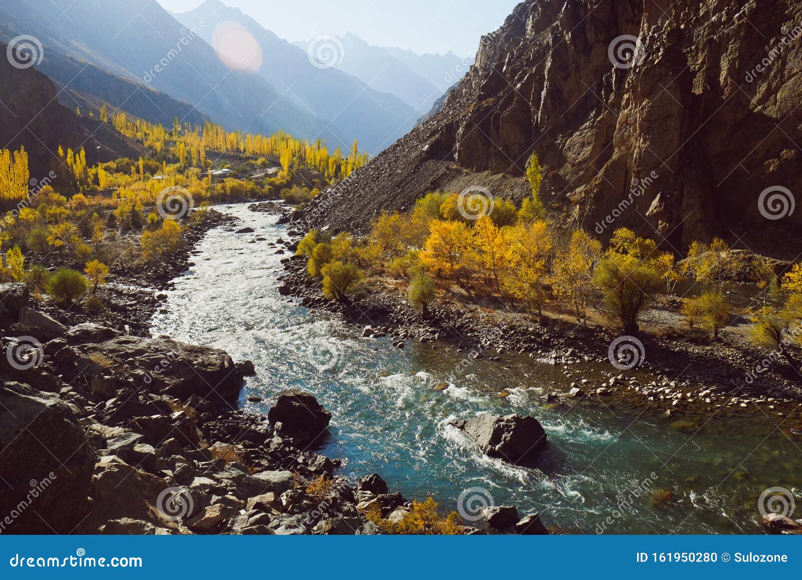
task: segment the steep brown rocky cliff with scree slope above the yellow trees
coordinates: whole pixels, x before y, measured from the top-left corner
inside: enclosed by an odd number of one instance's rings
[[[364,230],[383,209],[466,185],[520,198],[536,151],[549,210],[602,238],[612,216],[678,251],[747,232],[750,247],[796,255],[800,212],[788,211],[802,194],[802,5],[770,4],[523,2],[481,40],[444,108],[306,219]],[[772,187],[788,192],[761,202]]]

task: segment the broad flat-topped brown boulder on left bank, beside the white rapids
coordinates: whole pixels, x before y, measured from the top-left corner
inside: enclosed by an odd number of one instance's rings
[[[196,394],[221,405],[236,400],[242,386],[241,371],[219,349],[129,336],[74,348],[75,372],[84,377],[114,375],[118,382],[182,400]]]

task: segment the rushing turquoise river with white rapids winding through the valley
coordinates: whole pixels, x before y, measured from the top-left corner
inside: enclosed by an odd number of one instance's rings
[[[760,533],[761,492],[802,489],[799,442],[772,419],[720,415],[684,425],[613,401],[549,406],[541,387],[565,386],[559,366],[506,354],[466,363],[466,353],[442,342],[395,349],[389,337],[362,338],[337,315],[279,295],[286,256],[270,244],[286,228],[276,215],[244,204],[217,209],[255,232],[209,231],[152,333],[253,361],[245,410],[266,414],[288,387],[314,394],[332,414],[321,452],[342,460],[354,480],[376,472],[391,491],[432,496],[468,516],[482,502],[516,505],[562,533]],[[452,374],[447,390],[435,390]],[[247,402],[250,395],[264,402]],[[543,424],[549,445],[537,468],[488,459],[449,424],[488,410]]]

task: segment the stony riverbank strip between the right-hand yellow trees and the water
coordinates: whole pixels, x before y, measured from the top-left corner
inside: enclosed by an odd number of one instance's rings
[[[297,243],[296,238],[290,239],[286,247],[294,250]],[[407,303],[403,288],[395,288],[391,280],[380,280],[370,292],[341,304],[322,296],[318,281],[307,275],[302,256],[288,257],[284,265],[286,273],[279,288],[283,295],[294,296],[310,308],[339,312],[364,327],[365,336],[389,335],[394,345],[448,341],[466,354],[466,360],[481,359],[498,366],[500,372],[510,364],[533,366],[533,376],[537,376],[537,366],[561,367],[565,384],[545,386],[547,404],[573,405],[582,398],[608,405],[617,397],[627,405],[648,407],[658,414],[703,419],[727,412],[750,413],[782,423],[792,433],[802,430],[802,390],[782,373],[781,362],[758,381],[747,380],[765,353],[720,341],[699,345],[643,333],[644,362],[624,372],[608,358],[610,344],[618,338],[610,329],[532,317],[498,304],[453,297],[435,300],[424,318]],[[500,389],[500,393],[504,396],[505,391]]]

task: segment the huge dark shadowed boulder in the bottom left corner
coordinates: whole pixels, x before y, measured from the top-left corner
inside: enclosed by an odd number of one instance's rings
[[[0,387],[2,533],[71,533],[89,513],[95,455],[74,411],[56,395]]]

